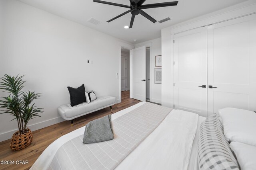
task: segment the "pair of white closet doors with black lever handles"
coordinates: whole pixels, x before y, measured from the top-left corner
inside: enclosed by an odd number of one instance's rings
[[[175,109],[205,117],[224,107],[256,111],[256,14],[174,40]]]

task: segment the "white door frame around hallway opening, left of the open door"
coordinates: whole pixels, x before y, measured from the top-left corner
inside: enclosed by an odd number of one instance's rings
[[[116,100],[116,103],[120,103],[122,102],[122,94],[121,94],[121,90],[122,90],[122,84],[121,84],[121,47],[126,48],[126,49],[134,49],[134,45],[128,44],[128,43],[124,43],[124,42],[119,42],[118,45],[118,63],[119,63],[119,68],[118,68],[118,78],[119,78],[119,98]]]

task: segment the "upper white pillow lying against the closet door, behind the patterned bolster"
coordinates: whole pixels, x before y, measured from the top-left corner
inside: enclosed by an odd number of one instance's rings
[[[219,109],[228,141],[256,146],[256,113],[244,109]]]

